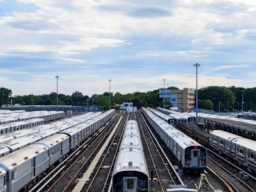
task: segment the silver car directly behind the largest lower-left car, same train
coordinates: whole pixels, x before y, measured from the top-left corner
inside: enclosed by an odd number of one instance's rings
[[[44,145],[48,148],[49,166],[61,160],[61,158],[70,151],[70,143],[67,134],[55,134],[42,141],[36,142],[35,145]]]

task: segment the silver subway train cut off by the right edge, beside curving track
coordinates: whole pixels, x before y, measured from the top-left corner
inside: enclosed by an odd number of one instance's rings
[[[236,161],[250,173],[256,173],[256,141],[230,132],[214,130],[209,134],[209,146],[221,155]]]

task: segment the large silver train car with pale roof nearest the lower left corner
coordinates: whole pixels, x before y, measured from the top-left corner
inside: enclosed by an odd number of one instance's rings
[[[49,168],[48,161],[48,148],[44,145],[31,145],[1,157],[0,168],[7,173],[6,191],[16,192],[26,187]]]

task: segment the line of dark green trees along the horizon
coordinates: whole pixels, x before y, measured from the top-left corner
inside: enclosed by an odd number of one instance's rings
[[[168,89],[177,90],[176,87]],[[148,92],[134,92],[121,94],[119,92],[110,93],[111,108],[118,109],[123,102],[133,102],[138,109],[141,107],[157,108],[163,107],[163,99],[159,98],[159,90]],[[255,111],[256,88],[207,86],[198,90],[198,108],[210,109],[214,111]],[[49,95],[15,95],[12,97],[12,90],[0,88],[0,102],[3,104],[20,105],[56,105],[57,93]],[[243,98],[243,99],[242,99]],[[242,104],[243,102],[243,104]],[[74,92],[72,95],[58,94],[58,104],[60,106],[100,106],[109,108],[109,92],[102,95],[93,94],[92,97],[83,95],[81,92]],[[172,107],[172,103],[165,103],[166,108]]]

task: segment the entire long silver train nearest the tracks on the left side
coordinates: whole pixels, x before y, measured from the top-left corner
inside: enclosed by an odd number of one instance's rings
[[[28,186],[35,184],[52,164],[60,162],[68,152],[81,145],[78,140],[82,138],[81,142],[86,141],[113,115],[115,110],[110,109],[90,119],[90,124],[84,122],[84,126],[77,127],[76,132],[68,133],[66,129],[0,157],[0,192],[28,190]]]

